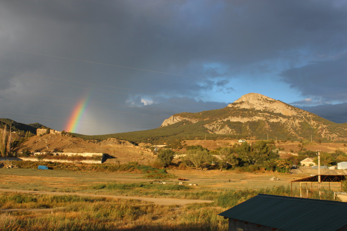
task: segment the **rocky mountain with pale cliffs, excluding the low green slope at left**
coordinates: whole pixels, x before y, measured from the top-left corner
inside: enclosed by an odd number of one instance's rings
[[[280,100],[249,93],[227,107],[199,113],[178,113],[161,127],[176,123],[197,124],[206,133],[253,136],[265,139],[347,140],[347,123],[337,124]]]

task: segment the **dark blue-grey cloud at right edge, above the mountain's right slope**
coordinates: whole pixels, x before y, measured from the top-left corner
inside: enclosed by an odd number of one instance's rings
[[[337,59],[314,62],[300,68],[283,71],[280,75],[291,88],[317,94],[325,102],[347,100],[347,54]],[[334,97],[330,97],[334,96]]]

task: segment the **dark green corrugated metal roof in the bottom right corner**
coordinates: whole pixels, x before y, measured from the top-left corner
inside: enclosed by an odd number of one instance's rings
[[[287,231],[336,231],[346,214],[346,202],[258,194],[218,215]]]

